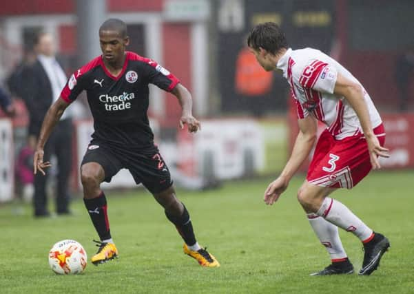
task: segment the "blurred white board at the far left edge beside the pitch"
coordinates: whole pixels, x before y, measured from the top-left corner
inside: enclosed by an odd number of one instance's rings
[[[14,150],[13,129],[8,119],[0,118],[0,202],[13,199]]]

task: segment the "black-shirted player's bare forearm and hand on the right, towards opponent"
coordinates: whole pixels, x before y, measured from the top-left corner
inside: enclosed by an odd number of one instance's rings
[[[187,88],[181,85],[180,83],[178,83],[171,92],[172,94],[174,94],[174,96],[178,98],[178,101],[181,105],[181,109],[183,109],[180,118],[180,128],[183,129],[184,125],[187,124],[188,132],[197,132],[198,129],[201,129],[201,125],[200,122],[196,120],[196,118],[194,118],[192,114],[192,94],[190,94]]]

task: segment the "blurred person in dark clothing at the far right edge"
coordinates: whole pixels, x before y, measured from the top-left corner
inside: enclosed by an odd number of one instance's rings
[[[395,64],[395,82],[400,90],[400,110],[408,110],[411,93],[410,85],[414,81],[414,47],[402,54]]]

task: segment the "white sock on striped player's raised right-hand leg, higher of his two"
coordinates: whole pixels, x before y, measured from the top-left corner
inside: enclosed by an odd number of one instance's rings
[[[373,230],[367,227],[358,216],[355,216],[348,207],[338,200],[326,197],[316,214],[341,229],[353,233],[361,241],[368,239],[373,233]]]

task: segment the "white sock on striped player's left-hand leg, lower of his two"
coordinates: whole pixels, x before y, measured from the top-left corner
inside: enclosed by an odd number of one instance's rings
[[[338,227],[315,213],[308,213],[307,216],[309,224],[311,224],[322,245],[327,249],[331,260],[338,262],[346,258],[347,255],[339,237]]]

